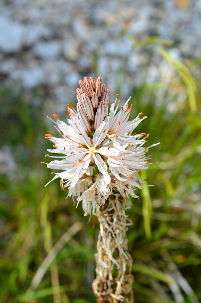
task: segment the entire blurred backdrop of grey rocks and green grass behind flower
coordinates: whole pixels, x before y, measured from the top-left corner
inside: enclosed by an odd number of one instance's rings
[[[84,76],[161,142],[128,201],[135,301],[201,302],[200,28],[200,0],[0,2],[0,302],[96,302],[97,219],[40,164]]]

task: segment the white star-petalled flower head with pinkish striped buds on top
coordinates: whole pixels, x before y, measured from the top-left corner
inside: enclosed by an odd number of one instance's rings
[[[142,147],[148,135],[131,135],[147,116],[140,119],[140,113],[129,121],[132,108],[128,107],[129,99],[119,108],[120,101],[115,107],[117,98],[108,115],[109,90],[100,77],[96,82],[85,77],[80,80],[80,87],[77,111],[68,105],[67,123],[53,114],[60,138],[46,135],[54,147],[48,151],[63,156],[46,156],[61,158],[47,164],[55,174],[53,180],[61,178],[62,188],[69,188],[68,196],[77,197],[78,203],[82,201],[85,215],[90,215],[91,209],[96,214],[96,206],[103,205],[112,190],[118,190],[124,197],[137,197],[134,190],[142,188],[138,172],[147,169],[145,165],[151,161],[145,157],[148,148]]]

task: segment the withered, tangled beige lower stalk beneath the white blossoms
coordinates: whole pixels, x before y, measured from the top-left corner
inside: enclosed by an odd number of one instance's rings
[[[119,193],[109,196],[102,208],[96,208],[100,223],[97,242],[96,279],[93,292],[98,303],[132,303],[132,258],[126,233],[132,222],[125,215],[125,198]]]

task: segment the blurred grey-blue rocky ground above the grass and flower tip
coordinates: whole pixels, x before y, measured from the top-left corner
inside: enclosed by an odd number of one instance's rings
[[[172,40],[171,55],[194,60],[200,15],[201,0],[2,0],[1,85],[40,87],[50,102],[66,103],[80,78],[100,75],[112,94],[127,98],[145,79],[157,81],[165,63],[157,50],[150,59],[149,48],[134,49],[125,33]]]

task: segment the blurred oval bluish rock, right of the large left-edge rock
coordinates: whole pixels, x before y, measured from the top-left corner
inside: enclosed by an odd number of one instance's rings
[[[60,43],[57,41],[39,42],[34,45],[33,54],[42,59],[56,60],[60,55]]]

